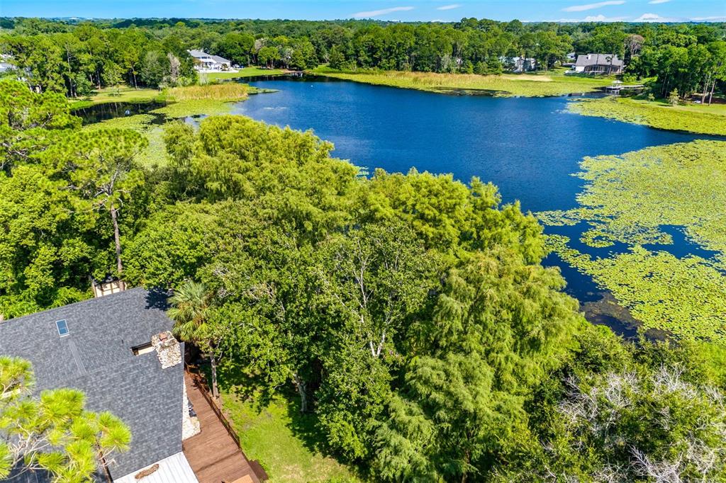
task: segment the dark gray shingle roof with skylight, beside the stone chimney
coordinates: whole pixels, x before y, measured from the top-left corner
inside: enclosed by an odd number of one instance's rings
[[[183,364],[162,369],[156,352],[131,352],[171,330],[167,308],[165,293],[139,288],[0,323],[0,354],[33,363],[36,391],[81,389],[89,410],[129,425],[131,450],[115,456],[115,478],[181,451]]]

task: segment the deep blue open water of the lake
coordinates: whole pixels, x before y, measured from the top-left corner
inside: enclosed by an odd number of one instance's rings
[[[333,155],[371,172],[383,168],[405,173],[415,167],[453,173],[465,182],[478,176],[496,184],[504,202],[518,200],[531,212],[576,207],[583,182],[572,173],[579,171],[583,157],[708,137],[570,114],[566,108],[571,98],[566,96],[453,96],[321,78],[250,84],[278,91],[250,96],[234,107],[237,114],[312,129],[335,144]],[[658,249],[677,256],[698,252],[678,228],[668,228],[674,245]],[[575,241],[578,230],[567,229]],[[568,292],[582,302],[601,296],[589,277],[556,255],[545,264],[560,266]]]

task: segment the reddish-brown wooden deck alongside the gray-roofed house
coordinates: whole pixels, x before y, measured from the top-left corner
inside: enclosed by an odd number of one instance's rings
[[[184,373],[187,397],[199,418],[201,432],[184,440],[181,447],[199,483],[259,483],[247,457],[234,442],[210,403],[188,373]]]

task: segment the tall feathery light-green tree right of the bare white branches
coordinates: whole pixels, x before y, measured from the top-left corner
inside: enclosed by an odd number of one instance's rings
[[[472,253],[449,271],[433,317],[412,327],[416,357],[376,434],[383,476],[465,481],[530,439],[525,398],[576,347],[584,323],[562,284],[507,249]]]

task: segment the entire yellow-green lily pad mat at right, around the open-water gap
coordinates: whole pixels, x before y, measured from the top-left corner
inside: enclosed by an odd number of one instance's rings
[[[577,197],[580,206],[542,212],[539,219],[549,226],[584,222],[589,228],[582,243],[619,242],[629,249],[592,258],[559,235],[548,236],[550,247],[610,290],[645,329],[726,343],[726,142],[588,157],[581,167],[576,176],[587,183]],[[673,243],[664,226],[682,227],[687,239],[714,251],[714,257],[645,249],[644,244]]]

